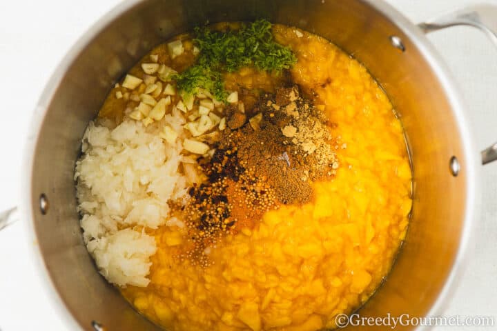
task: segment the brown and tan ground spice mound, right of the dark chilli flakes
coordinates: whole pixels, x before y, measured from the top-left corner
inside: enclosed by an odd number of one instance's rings
[[[332,124],[296,86],[264,94],[249,117],[250,125],[224,132],[221,144],[237,146],[238,157],[267,178],[281,203],[309,201],[311,181],[333,176],[338,168]]]

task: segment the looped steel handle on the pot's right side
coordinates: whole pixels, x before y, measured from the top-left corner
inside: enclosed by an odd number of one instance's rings
[[[478,4],[460,8],[435,19],[419,23],[418,27],[425,33],[449,28],[451,26],[473,26],[485,32],[497,46],[497,6]],[[482,164],[497,160],[497,143],[481,152]]]

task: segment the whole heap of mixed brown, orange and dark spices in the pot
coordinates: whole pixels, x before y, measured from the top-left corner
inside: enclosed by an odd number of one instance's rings
[[[295,86],[261,95],[247,112],[225,112],[213,157],[199,160],[208,179],[191,188],[183,210],[195,247],[189,254],[201,261],[222,234],[250,230],[278,205],[310,201],[312,182],[338,168],[331,123]]]

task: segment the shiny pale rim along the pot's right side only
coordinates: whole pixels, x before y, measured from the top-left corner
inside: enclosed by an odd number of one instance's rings
[[[445,305],[447,302],[454,297],[456,288],[462,279],[462,274],[465,272],[465,265],[467,264],[468,246],[471,238],[474,237],[474,222],[478,221],[480,217],[480,204],[481,204],[481,190],[480,190],[480,153],[476,148],[474,143],[473,130],[467,121],[467,106],[464,99],[462,98],[462,93],[460,88],[455,82],[453,75],[451,74],[447,63],[440,57],[440,54],[435,49],[431,41],[426,37],[426,34],[422,30],[414,25],[407,17],[405,17],[401,12],[393,8],[389,3],[378,0],[364,0],[371,7],[376,8],[376,10],[382,12],[391,19],[403,34],[405,34],[410,41],[416,46],[417,50],[425,58],[431,70],[436,74],[436,77],[440,81],[440,85],[444,88],[447,96],[447,100],[451,105],[451,110],[456,117],[456,122],[458,126],[458,133],[462,141],[462,155],[458,156],[459,160],[464,160],[465,169],[465,181],[466,181],[466,208],[464,216],[464,224],[461,230],[461,236],[459,239],[458,250],[454,262],[452,264],[451,271],[447,276],[445,284],[443,285],[437,299],[431,305],[428,310],[427,317],[437,317],[442,314],[445,310]],[[447,170],[449,168],[449,160],[447,160]],[[395,265],[393,266],[395,268]],[[387,276],[388,277],[388,276]],[[418,326],[416,330],[428,330],[430,327]]]

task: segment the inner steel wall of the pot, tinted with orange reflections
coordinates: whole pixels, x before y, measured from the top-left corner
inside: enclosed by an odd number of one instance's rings
[[[400,30],[373,5],[358,0],[148,0],[122,6],[106,17],[110,23],[77,54],[54,94],[46,96],[48,112],[30,174],[39,248],[55,288],[81,327],[92,330],[91,322],[99,321],[110,331],[155,329],[99,276],[81,239],[73,169],[88,121],[111,84],[164,39],[206,21],[260,17],[315,32],[353,54],[378,79],[400,114],[413,159],[412,220],[388,280],[361,314],[426,314],[458,249],[466,160],[447,91],[416,48],[416,33]],[[402,39],[405,52],[391,46],[392,35]],[[458,177],[449,173],[452,155],[460,157]],[[37,208],[42,193],[50,201],[46,215]]]

